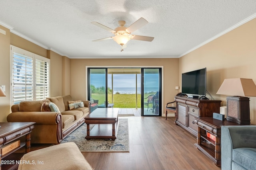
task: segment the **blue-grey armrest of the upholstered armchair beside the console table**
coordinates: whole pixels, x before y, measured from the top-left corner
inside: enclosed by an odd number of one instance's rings
[[[221,169],[232,169],[232,152],[235,148],[256,148],[256,126],[221,127]]]

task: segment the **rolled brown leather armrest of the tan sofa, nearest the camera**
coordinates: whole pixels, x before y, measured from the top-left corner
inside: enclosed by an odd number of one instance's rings
[[[36,124],[54,125],[61,120],[61,114],[58,112],[44,111],[17,111],[7,116],[8,122],[36,122]]]

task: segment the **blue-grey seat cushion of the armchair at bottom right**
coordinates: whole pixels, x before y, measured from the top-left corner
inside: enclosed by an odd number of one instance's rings
[[[256,169],[256,148],[233,149],[233,161],[248,170]]]

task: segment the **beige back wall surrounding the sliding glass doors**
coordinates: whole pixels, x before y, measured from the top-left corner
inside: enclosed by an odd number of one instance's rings
[[[178,86],[178,59],[71,59],[70,94],[75,100],[86,99],[86,66],[163,66],[163,106],[174,101]],[[164,110],[163,110],[164,111]],[[163,114],[162,114],[163,115]]]

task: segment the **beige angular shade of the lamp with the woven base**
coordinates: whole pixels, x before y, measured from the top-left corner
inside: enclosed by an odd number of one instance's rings
[[[250,78],[228,78],[216,94],[256,97],[256,85]]]

